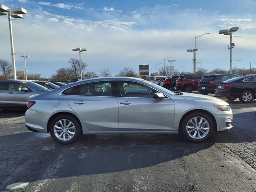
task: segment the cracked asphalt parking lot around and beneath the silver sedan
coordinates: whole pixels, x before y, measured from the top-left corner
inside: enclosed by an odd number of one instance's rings
[[[234,128],[200,144],[178,135],[114,134],[63,146],[28,131],[24,111],[0,112],[0,190],[256,192],[256,101],[228,103]]]

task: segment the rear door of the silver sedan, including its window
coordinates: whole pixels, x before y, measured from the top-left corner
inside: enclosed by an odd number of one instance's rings
[[[68,104],[90,131],[118,131],[118,104],[112,82],[84,83],[67,89]],[[68,93],[70,92],[70,93]]]

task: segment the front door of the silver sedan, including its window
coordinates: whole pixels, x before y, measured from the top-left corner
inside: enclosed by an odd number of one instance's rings
[[[129,86],[128,86],[129,85]],[[168,131],[173,129],[174,102],[154,99],[153,88],[132,81],[118,81],[120,131]]]

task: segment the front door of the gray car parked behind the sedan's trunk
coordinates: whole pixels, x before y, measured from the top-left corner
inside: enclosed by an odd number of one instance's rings
[[[25,86],[26,82],[9,82],[9,90],[7,92],[7,103],[26,105],[29,96],[33,94],[32,90]],[[22,90],[27,88],[27,91]]]

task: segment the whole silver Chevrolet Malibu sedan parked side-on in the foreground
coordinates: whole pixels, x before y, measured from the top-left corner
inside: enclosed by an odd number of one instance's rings
[[[100,87],[100,88],[99,88]],[[232,128],[228,103],[211,96],[172,92],[139,78],[96,78],[30,96],[30,131],[50,132],[61,144],[81,134],[177,134],[192,142]]]

